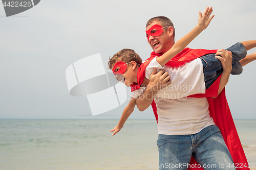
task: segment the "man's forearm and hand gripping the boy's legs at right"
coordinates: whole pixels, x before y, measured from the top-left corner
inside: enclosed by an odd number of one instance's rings
[[[228,78],[232,69],[232,53],[224,49],[220,49],[217,51],[215,57],[221,61],[222,68],[223,68],[223,72],[220,79],[219,90],[218,90],[218,95],[219,95],[228,82]]]

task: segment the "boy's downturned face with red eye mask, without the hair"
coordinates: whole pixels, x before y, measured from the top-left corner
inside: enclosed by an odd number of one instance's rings
[[[137,83],[137,72],[138,68],[136,67],[136,62],[131,61],[129,64],[126,64],[123,62],[120,66],[117,66],[115,70],[113,68],[115,67],[117,63],[112,65],[112,71],[114,72],[115,75],[117,75],[120,79],[120,77],[123,77],[124,84],[127,87],[130,87],[133,83]],[[126,70],[124,71],[126,65]],[[122,74],[118,73],[119,69],[122,69],[123,71],[121,72]],[[120,81],[120,80],[119,80]],[[122,81],[121,81],[122,82]]]

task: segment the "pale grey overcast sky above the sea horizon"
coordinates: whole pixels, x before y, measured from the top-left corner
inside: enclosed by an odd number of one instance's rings
[[[152,52],[145,36],[148,19],[170,18],[177,41],[197,25],[198,11],[207,6],[213,7],[215,17],[188,47],[219,49],[256,39],[255,5],[254,0],[41,0],[10,17],[0,5],[0,118],[120,118],[129,100],[105,116],[92,116],[86,97],[69,94],[66,68],[100,53],[108,70],[109,56],[122,48],[134,49],[145,60]],[[256,61],[246,65],[240,76],[229,78],[226,96],[234,119],[256,118],[255,67]],[[154,115],[151,108],[135,109],[130,118]]]

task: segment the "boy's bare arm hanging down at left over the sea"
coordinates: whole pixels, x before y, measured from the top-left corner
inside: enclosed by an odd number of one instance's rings
[[[129,104],[123,110],[123,113],[119,120],[118,125],[110,131],[110,132],[114,132],[112,136],[114,136],[117,132],[119,132],[123,128],[123,125],[126,122],[127,118],[132,114],[135,108],[135,105],[136,105],[136,99],[131,98]]]

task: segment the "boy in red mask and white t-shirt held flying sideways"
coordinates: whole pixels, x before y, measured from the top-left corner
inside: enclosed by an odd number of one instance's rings
[[[182,99],[186,96],[190,96],[197,93],[205,93],[205,90],[210,87],[210,85],[220,76],[222,72],[222,65],[221,62],[215,58],[215,55],[218,55],[219,52],[212,51],[212,53],[216,54],[209,54],[205,55],[201,58],[193,59],[185,66],[178,66],[178,67],[170,67],[164,68],[162,65],[166,64],[170,59],[180,53],[183,48],[193,40],[199,33],[201,33],[209,24],[210,20],[214,16],[210,16],[211,9],[207,11],[207,18],[206,16],[199,15],[199,24],[198,26],[188,33],[186,36],[181,38],[177,41],[173,48],[171,48],[168,52],[166,52],[161,57],[156,57],[151,60],[147,60],[142,64],[142,60],[140,57],[133,51],[129,49],[123,49],[122,51],[118,52],[110,59],[109,67],[113,70],[116,78],[125,83],[126,86],[132,87],[132,99],[123,111],[119,124],[111,130],[114,131],[112,135],[115,135],[120,129],[123,127],[126,119],[130,116],[133,112],[134,107],[136,105],[136,99],[138,96],[143,92],[146,85],[148,84],[148,79],[150,78],[150,74],[153,71],[153,67],[157,67],[158,69],[165,69],[165,71],[169,72],[170,77],[172,77],[172,88],[170,90],[159,90],[157,93],[157,97],[165,98],[165,99]],[[154,25],[152,28],[148,29],[147,37],[150,35],[158,36],[161,34],[161,30],[163,28],[159,25]],[[232,71],[231,74],[239,75],[242,72],[242,65],[239,63],[241,59],[246,56],[246,50],[250,50],[250,48],[256,46],[256,40],[253,41],[243,41],[242,43],[237,43],[232,45],[227,50],[232,52]],[[189,50],[189,49],[187,49]],[[126,54],[125,54],[126,53]],[[247,57],[248,58],[248,57]],[[250,55],[250,60],[256,59],[256,53]],[[128,61],[129,60],[129,61]],[[243,61],[246,61],[245,58]],[[125,62],[123,62],[125,61]],[[211,61],[211,62],[208,62]],[[210,63],[211,65],[207,65]],[[139,65],[142,64],[140,67]],[[247,63],[244,63],[244,65]],[[146,68],[145,68],[146,65]],[[203,70],[202,70],[203,65]],[[127,67],[128,66],[128,67]],[[215,66],[215,67],[212,67]],[[186,68],[186,69],[185,69]],[[182,84],[180,84],[180,80],[184,75],[188,75],[186,70],[193,70],[189,77],[182,79]],[[185,72],[185,74],[184,74]],[[198,76],[198,73],[201,76]],[[138,75],[145,74],[142,79],[139,79]],[[200,79],[204,77],[204,80]],[[138,77],[137,77],[138,76]],[[189,85],[187,87],[187,85]],[[209,94],[211,95],[211,94]],[[212,123],[209,123],[211,125]],[[214,124],[214,123],[213,123]]]

